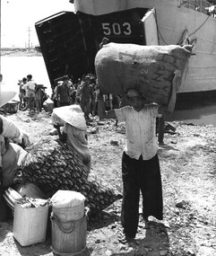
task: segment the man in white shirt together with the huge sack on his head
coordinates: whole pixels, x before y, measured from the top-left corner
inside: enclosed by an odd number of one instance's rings
[[[156,118],[174,110],[176,93],[185,79],[190,55],[189,50],[179,46],[110,43],[99,49],[95,57],[100,90],[99,118],[125,121],[121,211],[125,235],[121,241],[134,239],[137,233],[140,191],[144,222],[148,223],[149,216],[163,218]],[[102,93],[126,96],[127,105],[105,111]]]

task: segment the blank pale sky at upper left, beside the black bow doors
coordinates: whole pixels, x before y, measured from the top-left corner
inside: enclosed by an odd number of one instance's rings
[[[39,45],[35,22],[61,11],[73,11],[73,4],[69,3],[69,0],[0,1],[2,48],[24,48],[28,47],[29,42],[33,47]]]

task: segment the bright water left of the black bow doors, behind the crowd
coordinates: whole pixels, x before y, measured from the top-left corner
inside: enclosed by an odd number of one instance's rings
[[[31,74],[37,84],[48,87],[46,93],[51,95],[51,85],[43,57],[1,57],[1,73],[3,82],[13,90],[19,92],[18,80]]]

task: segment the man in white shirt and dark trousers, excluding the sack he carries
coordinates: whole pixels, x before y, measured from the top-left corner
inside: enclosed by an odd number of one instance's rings
[[[129,106],[105,111],[102,97],[99,98],[99,117],[117,118],[125,121],[126,145],[122,156],[123,201],[121,223],[125,236],[122,240],[134,239],[139,222],[140,190],[143,195],[143,220],[149,216],[163,218],[162,186],[156,117],[159,106],[146,104],[143,95],[134,89],[126,93]],[[141,129],[142,127],[142,129]]]

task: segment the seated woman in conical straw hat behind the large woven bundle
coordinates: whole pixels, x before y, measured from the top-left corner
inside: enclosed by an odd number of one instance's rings
[[[91,154],[88,146],[87,126],[81,108],[78,105],[57,108],[53,111],[52,119],[59,139],[69,148],[73,147],[82,163],[90,170]],[[61,132],[60,126],[62,125],[64,128]]]

